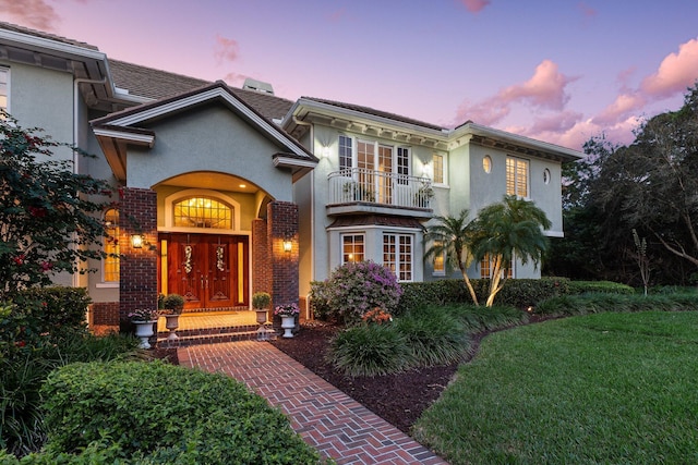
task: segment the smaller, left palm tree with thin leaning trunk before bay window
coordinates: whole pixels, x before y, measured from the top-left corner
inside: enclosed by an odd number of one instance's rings
[[[428,227],[424,235],[426,241],[432,242],[431,247],[424,253],[424,258],[430,259],[446,254],[446,265],[458,267],[464,281],[466,281],[466,286],[470,291],[472,302],[479,305],[478,296],[467,272],[473,259],[470,247],[473,221],[468,219],[469,215],[468,210],[462,210],[458,217],[434,217],[437,223]]]

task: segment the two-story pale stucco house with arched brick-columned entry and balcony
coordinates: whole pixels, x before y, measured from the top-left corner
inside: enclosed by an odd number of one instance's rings
[[[368,107],[276,97],[109,59],[96,47],[0,23],[0,106],[94,159],[76,172],[109,180],[105,219],[120,254],[85,286],[96,325],[118,325],[158,293],[190,311],[249,308],[257,291],[300,302],[310,282],[372,259],[400,281],[446,276],[423,260],[435,215],[477,212],[505,193],[530,198],[563,235],[561,163],[576,150],[473,122],[456,129]],[[73,157],[70,150],[58,157]],[[486,274],[476,264],[473,277]],[[515,277],[540,271],[516,264]]]

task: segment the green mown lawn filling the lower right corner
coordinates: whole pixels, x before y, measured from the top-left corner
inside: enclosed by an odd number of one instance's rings
[[[698,313],[607,313],[492,334],[414,436],[453,465],[696,464]]]

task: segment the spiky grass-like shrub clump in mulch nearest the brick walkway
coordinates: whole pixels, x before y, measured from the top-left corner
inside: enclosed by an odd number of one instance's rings
[[[414,360],[393,325],[349,328],[330,342],[328,360],[347,376],[382,376],[406,370]]]

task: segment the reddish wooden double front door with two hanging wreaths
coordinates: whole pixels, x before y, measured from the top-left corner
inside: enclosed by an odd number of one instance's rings
[[[248,236],[170,233],[160,240],[167,249],[161,289],[183,295],[185,309],[248,306]]]

